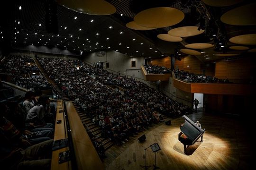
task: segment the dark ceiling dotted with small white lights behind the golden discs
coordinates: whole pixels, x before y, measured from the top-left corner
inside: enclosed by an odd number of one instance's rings
[[[185,48],[184,45],[188,43],[216,44],[219,41],[219,39],[215,40],[208,30],[198,36],[183,38],[182,42],[165,42],[156,37],[157,34],[167,34],[170,29],[179,26],[199,26],[198,18],[201,16],[200,12],[204,10],[197,6],[202,3],[201,0],[107,0],[117,9],[116,13],[110,16],[86,15],[57,4],[57,28],[54,30],[56,34],[46,31],[46,1],[49,0],[14,0],[9,4],[9,9],[2,2],[1,7],[6,7],[8,12],[3,13],[2,18],[5,22],[2,23],[0,29],[7,28],[5,29],[6,37],[10,40],[11,47],[45,45],[49,48],[57,47],[77,53],[83,51],[83,54],[92,51],[116,50],[133,57],[159,58],[174,54],[174,49]],[[251,0],[244,3],[249,2]],[[228,49],[232,44],[228,42],[229,38],[242,33],[256,32],[255,26],[230,26],[219,21],[223,13],[244,3],[225,8],[204,5],[210,17],[214,18],[211,27],[219,29],[221,36],[224,37],[225,47],[219,49],[215,46],[207,49],[204,55],[197,56],[199,59],[202,61],[220,59],[221,57],[212,54],[231,51]],[[125,26],[126,23],[133,21],[133,17],[138,12],[153,7],[178,8],[183,11],[185,18],[174,26],[149,31],[131,30]],[[255,46],[248,47],[255,48]],[[205,55],[208,55],[210,59],[206,59]]]

